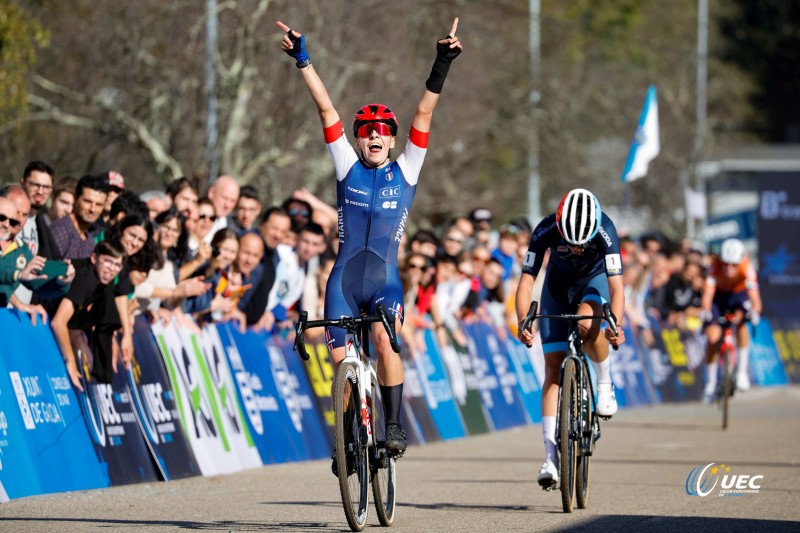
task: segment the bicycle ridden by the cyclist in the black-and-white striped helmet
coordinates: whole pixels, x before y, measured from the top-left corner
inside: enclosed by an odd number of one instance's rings
[[[556,418],[556,443],[558,445],[558,476],[561,489],[561,504],[565,513],[571,513],[577,499],[578,509],[585,509],[589,500],[589,461],[594,445],[600,438],[600,418],[596,413],[597,400],[594,395],[589,363],[583,351],[583,340],[578,332],[581,320],[605,320],[614,334],[617,324],[609,304],[603,305],[602,315],[537,315],[539,302],[531,302],[528,314],[522,323],[530,329],[534,320],[540,318],[566,320],[568,322],[567,354],[561,363],[558,381],[558,411]],[[545,490],[553,490],[546,487]]]

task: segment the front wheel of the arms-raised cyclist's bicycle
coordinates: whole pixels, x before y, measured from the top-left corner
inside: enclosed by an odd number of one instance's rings
[[[362,531],[367,523],[369,461],[366,435],[361,431],[361,398],[358,371],[353,363],[343,362],[336,371],[334,410],[336,413],[336,464],[339,491],[347,523]]]

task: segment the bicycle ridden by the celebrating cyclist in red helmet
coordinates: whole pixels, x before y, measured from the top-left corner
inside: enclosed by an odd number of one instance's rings
[[[395,457],[386,451],[386,424],[378,374],[369,361],[369,330],[376,322],[389,334],[392,349],[400,345],[386,309],[377,314],[344,316],[332,320],[308,320],[303,312],[297,323],[294,349],[308,360],[303,333],[311,328],[337,327],[347,331],[345,357],[333,381],[335,412],[335,468],[347,523],[362,531],[367,522],[369,485],[375,510],[382,526],[394,523],[397,467]]]

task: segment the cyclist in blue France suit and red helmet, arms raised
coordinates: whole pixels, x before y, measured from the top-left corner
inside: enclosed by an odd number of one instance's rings
[[[428,148],[431,119],[452,61],[461,53],[456,37],[458,18],[447,37],[436,43],[436,60],[417,104],[405,149],[395,161],[398,121],[383,104],[368,104],[353,119],[355,147],[344,135],[339,113],[306,50],[306,37],[278,21],[284,32],[281,48],[296,61],[316,105],[328,151],[337,176],[339,253],[325,292],[325,316],[375,313],[381,302],[402,326],[403,287],[397,267],[398,245],[416,192],[417,180]],[[400,426],[403,363],[394,353],[380,324],[374,325],[378,370],[387,422],[386,449],[401,456],[406,435]],[[334,366],[344,358],[345,332],[328,331]]]

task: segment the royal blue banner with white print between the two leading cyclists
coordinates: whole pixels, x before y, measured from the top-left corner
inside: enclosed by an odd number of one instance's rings
[[[481,399],[496,430],[527,422],[511,361],[493,326],[483,322],[466,324],[467,346],[475,361]]]

